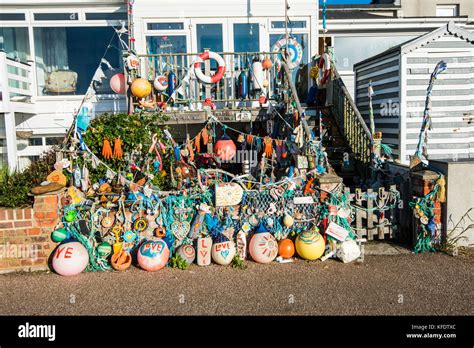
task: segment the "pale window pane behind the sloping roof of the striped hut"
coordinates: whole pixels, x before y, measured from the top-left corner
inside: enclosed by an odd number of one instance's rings
[[[334,55],[336,67],[339,71],[352,71],[355,63],[413,38],[415,36],[335,37]]]

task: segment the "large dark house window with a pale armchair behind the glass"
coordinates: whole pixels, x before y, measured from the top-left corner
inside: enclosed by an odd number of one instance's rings
[[[111,27],[34,28],[38,95],[85,94],[105,52],[104,43],[114,35]],[[117,37],[105,59],[120,70]],[[109,78],[117,70],[107,69],[96,84],[97,93],[109,93]]]

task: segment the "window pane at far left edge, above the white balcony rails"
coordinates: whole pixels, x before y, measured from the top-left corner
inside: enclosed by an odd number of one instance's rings
[[[28,28],[0,28],[0,50],[8,58],[26,62],[30,57]]]

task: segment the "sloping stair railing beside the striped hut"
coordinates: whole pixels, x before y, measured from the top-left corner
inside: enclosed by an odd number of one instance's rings
[[[372,161],[373,138],[336,67],[332,66],[332,106],[330,111],[356,160],[368,173]]]

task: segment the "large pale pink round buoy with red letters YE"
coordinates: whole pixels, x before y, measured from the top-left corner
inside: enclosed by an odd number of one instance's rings
[[[79,242],[58,245],[53,255],[53,269],[62,276],[74,276],[84,271],[89,264],[89,253]]]

